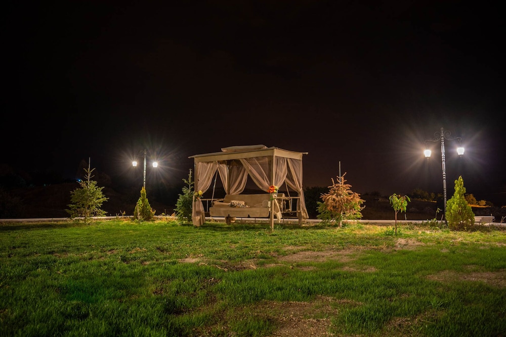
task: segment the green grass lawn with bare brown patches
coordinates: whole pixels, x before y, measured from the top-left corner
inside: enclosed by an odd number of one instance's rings
[[[506,231],[0,224],[2,336],[504,336]]]

